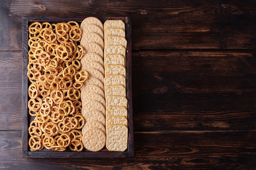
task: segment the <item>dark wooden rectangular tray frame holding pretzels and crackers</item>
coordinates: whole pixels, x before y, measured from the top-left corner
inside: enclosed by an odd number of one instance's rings
[[[29,16],[23,17],[23,36],[22,36],[22,157],[29,158],[126,158],[134,157],[134,144],[133,144],[133,120],[132,120],[132,41],[131,41],[131,18],[130,17],[97,17],[101,22],[106,20],[123,20],[126,25],[126,39],[127,39],[127,51],[126,51],[126,87],[127,87],[127,99],[128,99],[128,148],[124,152],[110,152],[103,148],[99,152],[91,152],[84,148],[81,152],[76,151],[63,151],[56,152],[52,150],[39,150],[31,151],[28,146],[29,134],[28,125],[31,122],[31,116],[28,113],[27,102],[29,80],[27,77],[27,64],[28,64],[28,27],[32,22],[68,22],[76,21],[79,24],[88,16],[81,17],[56,17],[56,16]]]

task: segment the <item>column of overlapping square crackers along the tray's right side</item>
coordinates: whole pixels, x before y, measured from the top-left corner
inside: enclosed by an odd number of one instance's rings
[[[106,98],[106,148],[125,151],[128,145],[126,98],[125,24],[122,20],[104,23],[104,92]]]

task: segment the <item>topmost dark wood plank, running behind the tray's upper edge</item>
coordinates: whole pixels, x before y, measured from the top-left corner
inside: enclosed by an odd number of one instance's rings
[[[207,3],[200,3],[200,0],[171,3],[90,2],[92,4],[86,1],[78,2],[79,8],[77,3],[70,1],[44,2],[44,4],[30,3],[26,0],[2,2],[5,8],[0,9],[4,16],[0,26],[3,30],[11,29],[11,31],[3,34],[4,39],[1,39],[7,40],[7,44],[3,44],[0,50],[21,50],[20,18],[26,15],[45,15],[45,13],[53,16],[131,16],[134,28],[132,29],[133,50],[256,48],[254,31],[256,8],[253,1],[245,3],[238,0],[229,2],[230,4],[223,4],[219,0]]]

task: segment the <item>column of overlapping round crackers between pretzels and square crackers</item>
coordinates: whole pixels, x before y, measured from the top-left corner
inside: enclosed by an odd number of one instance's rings
[[[81,88],[82,115],[86,121],[82,141],[86,149],[99,151],[106,145],[103,24],[96,17],[87,17],[80,28],[83,31],[81,46],[85,49],[81,68],[89,73],[88,80]]]

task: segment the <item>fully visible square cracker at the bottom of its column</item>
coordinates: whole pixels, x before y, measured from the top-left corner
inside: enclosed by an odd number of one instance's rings
[[[128,128],[122,124],[110,124],[106,128],[106,148],[109,151],[124,152],[128,145]]]

